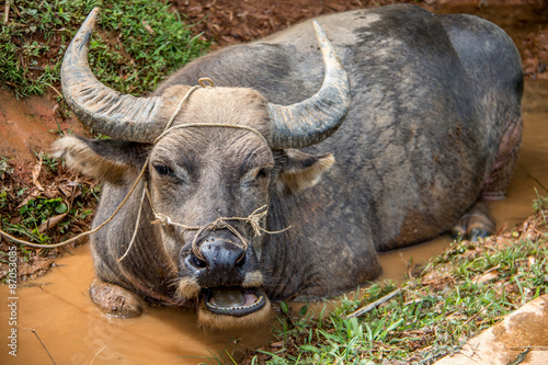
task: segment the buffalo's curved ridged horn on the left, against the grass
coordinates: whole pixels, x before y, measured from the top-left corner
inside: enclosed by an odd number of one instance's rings
[[[88,126],[113,138],[150,142],[161,133],[157,122],[162,98],[135,98],[102,84],[88,64],[88,42],[100,9],[88,15],[68,46],[61,66],[65,100]]]

